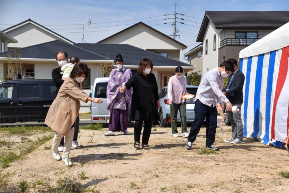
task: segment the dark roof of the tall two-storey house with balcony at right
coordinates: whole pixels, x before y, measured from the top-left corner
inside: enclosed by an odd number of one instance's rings
[[[216,29],[275,30],[289,21],[289,11],[206,11],[197,42],[203,42],[209,21]]]

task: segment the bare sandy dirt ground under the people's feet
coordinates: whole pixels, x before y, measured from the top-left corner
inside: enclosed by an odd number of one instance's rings
[[[78,178],[77,174],[85,171],[88,178],[80,183],[99,192],[289,191],[289,179],[277,173],[289,171],[288,152],[250,139],[238,145],[224,143],[223,139],[231,136],[228,126],[224,134],[217,128],[215,145],[220,151],[210,155],[199,154],[199,147],[205,144],[205,128],[192,150],[184,147],[187,139],[171,136],[171,128],[153,128],[150,150],[135,149],[133,135],[105,137],[107,130],[81,130],[78,142],[82,147],[71,150],[73,167],[56,161],[51,150],[44,149],[51,146],[51,139],[2,173],[13,173],[13,184],[26,180],[31,185],[47,179],[55,183],[65,174]],[[129,132],[133,133],[133,128]],[[28,191],[34,192],[32,188]]]

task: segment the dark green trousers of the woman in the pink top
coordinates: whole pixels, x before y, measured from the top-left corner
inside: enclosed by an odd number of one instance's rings
[[[182,102],[180,104],[172,102],[170,105],[170,114],[171,114],[171,119],[172,119],[172,133],[178,133],[177,130],[177,115],[178,115],[178,110],[180,112],[181,116],[181,132],[182,133],[188,133],[187,131],[187,106],[186,102]]]

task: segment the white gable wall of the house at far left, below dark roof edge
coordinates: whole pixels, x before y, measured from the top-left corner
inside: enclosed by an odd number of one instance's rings
[[[18,41],[18,43],[9,43],[8,48],[22,48],[60,39],[31,23],[6,32],[6,34]]]

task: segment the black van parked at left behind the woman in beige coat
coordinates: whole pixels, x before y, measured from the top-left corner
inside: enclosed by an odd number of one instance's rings
[[[53,80],[24,79],[0,83],[0,123],[44,122],[56,97]]]

